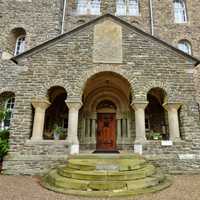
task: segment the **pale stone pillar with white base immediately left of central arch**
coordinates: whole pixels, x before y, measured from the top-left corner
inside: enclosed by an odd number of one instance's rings
[[[78,113],[82,106],[81,102],[66,101],[69,109],[68,120],[68,137],[69,153],[71,155],[79,153],[79,140],[78,140]]]

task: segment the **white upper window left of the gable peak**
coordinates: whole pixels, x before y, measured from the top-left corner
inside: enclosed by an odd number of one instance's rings
[[[100,0],[78,0],[77,12],[80,15],[100,15]]]

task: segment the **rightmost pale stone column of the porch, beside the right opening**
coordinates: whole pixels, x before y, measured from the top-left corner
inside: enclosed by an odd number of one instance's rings
[[[169,137],[172,141],[180,141],[178,109],[182,104],[179,102],[166,103],[163,107],[168,112]]]

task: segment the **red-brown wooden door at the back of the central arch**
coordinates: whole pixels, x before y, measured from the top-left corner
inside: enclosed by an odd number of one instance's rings
[[[116,114],[98,113],[97,115],[97,151],[116,150]]]

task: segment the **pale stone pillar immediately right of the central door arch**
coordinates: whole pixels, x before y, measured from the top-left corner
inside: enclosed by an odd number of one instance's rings
[[[135,143],[143,144],[146,142],[145,132],[145,108],[148,102],[133,102],[132,107],[135,110],[135,127],[136,127],[136,138]]]

